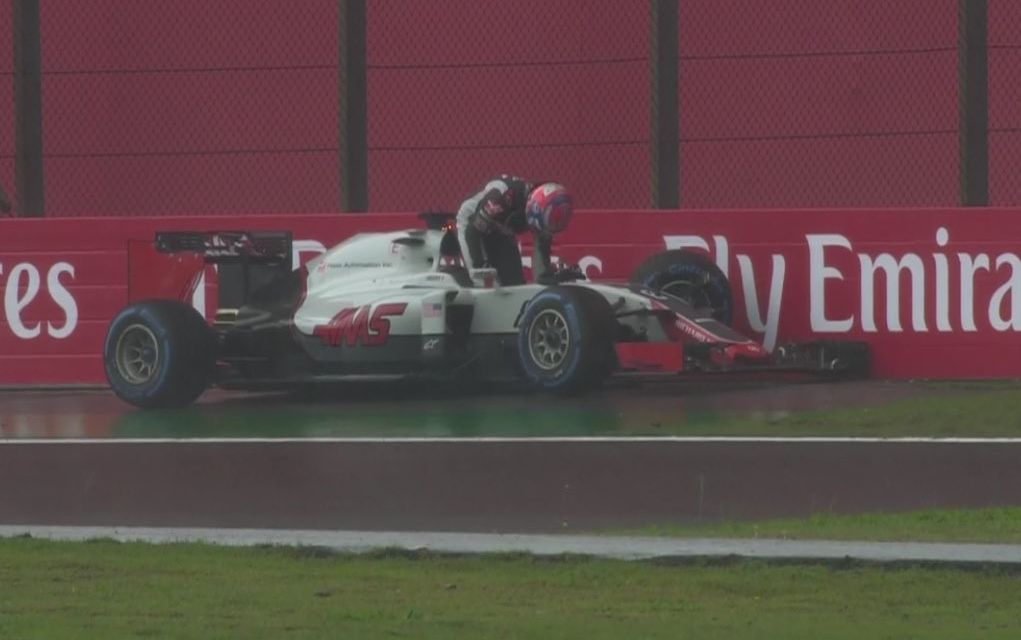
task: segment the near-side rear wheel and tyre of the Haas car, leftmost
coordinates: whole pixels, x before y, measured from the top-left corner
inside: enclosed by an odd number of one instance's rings
[[[113,393],[135,406],[191,404],[209,384],[215,336],[198,311],[176,300],[147,300],[110,323],[103,349]]]

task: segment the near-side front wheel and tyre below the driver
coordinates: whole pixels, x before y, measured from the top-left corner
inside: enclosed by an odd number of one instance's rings
[[[599,293],[549,287],[532,298],[518,327],[518,356],[538,389],[581,393],[598,387],[615,365],[617,321]]]

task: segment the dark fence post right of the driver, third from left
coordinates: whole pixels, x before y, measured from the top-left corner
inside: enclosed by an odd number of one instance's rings
[[[681,204],[678,0],[650,1],[652,207],[676,209]]]

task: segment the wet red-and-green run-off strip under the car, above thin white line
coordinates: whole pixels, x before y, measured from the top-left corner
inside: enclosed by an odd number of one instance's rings
[[[934,393],[908,383],[716,382],[618,386],[580,398],[363,385],[314,396],[210,392],[141,411],[108,391],[0,392],[0,438],[386,438],[683,435],[721,416],[883,403]]]

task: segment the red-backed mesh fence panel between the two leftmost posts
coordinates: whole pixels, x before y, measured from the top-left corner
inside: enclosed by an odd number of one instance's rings
[[[47,214],[335,210],[336,6],[41,3]]]

